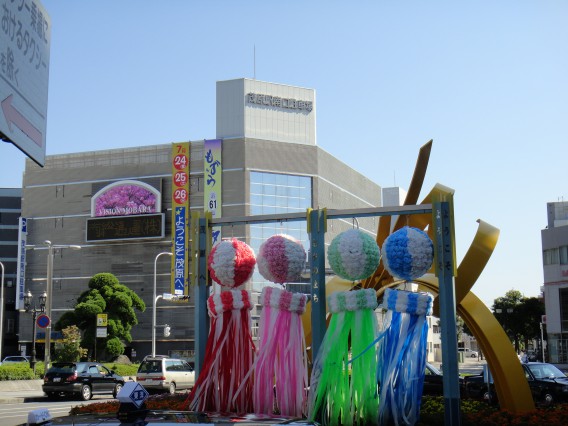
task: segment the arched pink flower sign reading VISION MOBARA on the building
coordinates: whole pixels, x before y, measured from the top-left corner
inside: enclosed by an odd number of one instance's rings
[[[91,216],[128,216],[159,213],[160,192],[144,183],[123,180],[105,186],[91,199]]]

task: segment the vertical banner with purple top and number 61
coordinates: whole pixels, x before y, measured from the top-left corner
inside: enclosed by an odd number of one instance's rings
[[[211,212],[213,218],[222,216],[222,174],[223,164],[221,163],[221,151],[223,148],[222,139],[205,140],[203,145],[203,164],[205,167],[205,188],[204,203],[205,210]],[[211,230],[212,245],[221,241],[221,227],[217,226]]]

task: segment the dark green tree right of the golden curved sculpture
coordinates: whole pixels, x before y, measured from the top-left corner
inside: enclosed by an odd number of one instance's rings
[[[515,351],[527,349],[528,341],[540,337],[540,321],[544,303],[536,297],[524,297],[518,290],[509,290],[493,301],[495,318],[511,341]]]

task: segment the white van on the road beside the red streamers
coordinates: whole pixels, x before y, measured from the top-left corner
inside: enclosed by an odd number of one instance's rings
[[[136,381],[147,391],[175,393],[177,389],[190,389],[195,384],[195,371],[183,359],[156,355],[146,356],[138,367]]]

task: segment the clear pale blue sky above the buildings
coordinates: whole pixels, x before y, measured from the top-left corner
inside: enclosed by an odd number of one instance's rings
[[[407,187],[433,139],[422,195],[455,189],[458,260],[477,219],[501,230],[474,292],[539,294],[546,203],[568,199],[568,2],[43,5],[48,155],[213,138],[215,82],[256,70],[314,88],[318,145],[381,186]],[[0,143],[1,187],[24,159]]]

